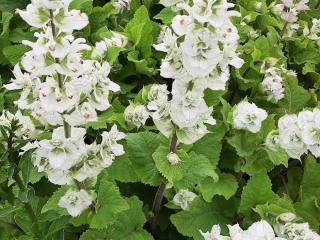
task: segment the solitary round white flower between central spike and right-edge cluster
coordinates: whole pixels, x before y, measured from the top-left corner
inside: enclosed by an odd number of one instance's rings
[[[267,116],[267,112],[258,108],[254,103],[242,101],[233,112],[233,126],[236,129],[245,129],[257,133]]]

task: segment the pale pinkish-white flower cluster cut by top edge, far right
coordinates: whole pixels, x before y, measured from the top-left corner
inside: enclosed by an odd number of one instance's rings
[[[308,2],[309,0],[282,0],[282,3],[275,7],[285,22],[293,23],[298,20],[298,14],[301,11],[309,9]]]

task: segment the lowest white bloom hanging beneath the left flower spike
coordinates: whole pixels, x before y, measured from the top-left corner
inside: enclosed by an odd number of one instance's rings
[[[92,197],[81,189],[80,191],[68,191],[60,198],[59,206],[66,208],[72,217],[77,217],[91,205],[92,201]]]

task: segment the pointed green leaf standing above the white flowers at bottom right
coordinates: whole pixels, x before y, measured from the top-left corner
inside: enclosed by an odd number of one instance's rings
[[[275,202],[279,197],[272,191],[271,186],[267,173],[261,172],[252,176],[242,190],[240,213],[248,214],[256,205]]]

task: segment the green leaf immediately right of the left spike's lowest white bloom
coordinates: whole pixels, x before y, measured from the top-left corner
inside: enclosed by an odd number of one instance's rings
[[[129,208],[121,197],[114,182],[102,177],[98,186],[97,213],[92,217],[90,227],[102,229],[113,224],[120,212]]]

